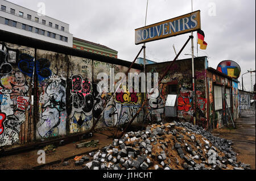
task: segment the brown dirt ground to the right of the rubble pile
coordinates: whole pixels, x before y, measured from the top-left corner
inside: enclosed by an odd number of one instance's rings
[[[242,117],[236,121],[236,129],[220,128],[212,132],[214,136],[233,140],[232,148],[237,160],[249,163],[255,170],[255,117]]]

